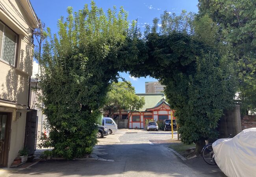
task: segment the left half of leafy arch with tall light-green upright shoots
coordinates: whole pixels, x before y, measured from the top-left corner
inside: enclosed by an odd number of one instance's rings
[[[119,68],[117,52],[128,33],[127,12],[101,8],[91,2],[78,12],[67,8],[58,20],[58,34],[47,30],[38,96],[47,117],[47,137],[39,147],[54,147],[52,154],[66,159],[84,157],[97,143],[96,120],[105,95]],[[115,62],[114,62],[115,61]]]

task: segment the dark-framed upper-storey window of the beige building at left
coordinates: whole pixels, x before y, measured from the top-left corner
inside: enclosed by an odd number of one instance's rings
[[[18,36],[0,22],[0,59],[15,66]]]

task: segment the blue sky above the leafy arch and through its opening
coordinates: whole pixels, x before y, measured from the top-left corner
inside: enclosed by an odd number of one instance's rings
[[[50,27],[52,33],[58,31],[56,24],[60,16],[67,16],[66,9],[72,6],[74,11],[83,8],[84,4],[90,4],[90,0],[30,0],[32,6],[46,27]],[[128,11],[128,19],[130,21],[138,19],[138,25],[143,31],[145,23],[152,24],[152,19],[160,18],[161,13],[167,10],[177,15],[185,9],[197,13],[197,0],[95,0],[98,7],[102,7],[104,11],[113,6],[117,8],[123,6]],[[154,78],[142,77],[133,78],[129,74],[121,73],[121,76],[132,82],[136,93],[145,93],[145,82],[156,81]]]

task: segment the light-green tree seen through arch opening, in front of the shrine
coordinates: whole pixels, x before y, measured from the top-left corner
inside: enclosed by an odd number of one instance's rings
[[[121,109],[139,110],[145,105],[145,98],[135,95],[132,84],[127,82],[112,83],[106,96],[104,110],[111,116]]]

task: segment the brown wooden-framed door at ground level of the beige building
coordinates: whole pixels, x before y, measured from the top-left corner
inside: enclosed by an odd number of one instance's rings
[[[7,167],[11,116],[0,112],[0,166]]]

